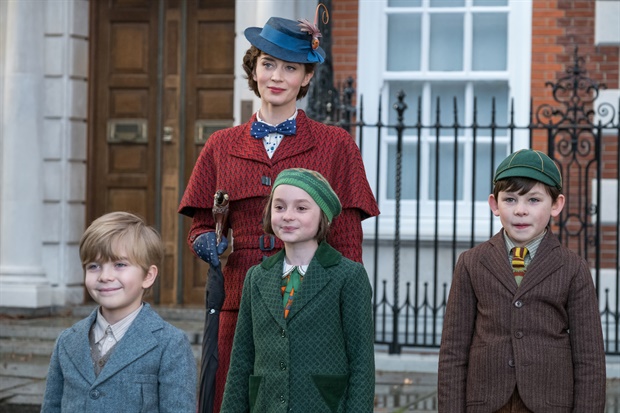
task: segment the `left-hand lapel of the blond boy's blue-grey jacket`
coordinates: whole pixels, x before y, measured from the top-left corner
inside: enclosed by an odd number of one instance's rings
[[[75,370],[84,377],[84,380],[91,384],[95,381],[96,377],[93,359],[90,354],[88,334],[95,322],[98,310],[99,307],[93,310],[87,318],[76,323],[71,328],[70,334],[67,335],[63,343],[64,351],[75,366]]]

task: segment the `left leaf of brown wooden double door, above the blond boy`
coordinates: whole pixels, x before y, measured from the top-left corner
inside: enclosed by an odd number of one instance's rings
[[[87,219],[124,210],[153,222],[156,8],[120,0],[92,6]]]

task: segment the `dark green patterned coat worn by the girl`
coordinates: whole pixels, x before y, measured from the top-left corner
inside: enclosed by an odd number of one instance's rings
[[[372,289],[363,265],[321,243],[285,319],[283,260],[284,250],[248,271],[221,413],[372,413]]]

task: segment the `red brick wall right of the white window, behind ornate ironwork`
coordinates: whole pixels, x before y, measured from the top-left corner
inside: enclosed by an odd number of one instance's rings
[[[595,2],[591,0],[536,0],[533,2],[532,15],[532,81],[531,96],[534,110],[541,105],[550,105],[566,113],[567,106],[557,102],[553,96],[552,88],[546,86],[546,82],[556,83],[558,79],[568,75],[567,69],[575,64],[575,48],[580,59],[583,59],[582,69],[585,69],[583,76],[592,79],[594,82],[605,84],[608,89],[618,89],[619,74],[619,50],[618,46],[596,46],[594,44],[595,28]],[[569,97],[572,90],[559,96]],[[585,92],[580,92],[582,103],[585,103],[584,110],[587,112],[592,109],[588,103],[591,100]],[[554,122],[560,120],[558,116],[552,117]],[[589,117],[589,121],[594,118]],[[546,118],[548,121],[549,118]],[[536,119],[534,119],[536,121]],[[587,122],[587,121],[586,121]],[[616,118],[616,122],[618,119]],[[586,139],[581,140],[582,137]],[[556,147],[558,141],[570,142],[571,135],[564,134],[556,137]],[[583,134],[580,136],[580,143],[587,141],[594,142],[592,135]],[[602,151],[601,168],[602,174],[608,179],[618,179],[617,172],[617,141],[618,136],[604,136],[600,143]],[[533,146],[543,151],[547,150],[547,136],[544,131],[536,133],[533,138]],[[584,150],[584,147],[581,148]],[[571,212],[583,210],[587,207],[583,204],[584,192],[579,192],[579,186],[591,184],[590,179],[595,176],[594,171],[590,170],[590,175],[586,179],[584,171],[586,165],[594,158],[594,147],[584,150],[586,155],[579,155],[575,159],[571,156],[561,159],[565,176],[565,194],[567,195],[567,205],[565,210]],[[581,171],[575,168],[575,163],[583,167]],[[572,165],[572,166],[569,166]],[[592,168],[592,166],[590,167]],[[581,178],[581,181],[580,181]],[[582,187],[583,188],[583,187]],[[591,193],[588,191],[588,195]],[[595,201],[594,201],[595,202]],[[574,226],[574,225],[573,225]],[[571,225],[569,225],[569,228]],[[579,228],[576,225],[575,230]],[[617,239],[613,234],[616,232],[615,225],[603,225],[601,236],[601,258],[603,268],[615,268],[617,265]],[[583,252],[584,245],[578,245],[575,240],[569,242],[569,246]],[[594,246],[590,245],[588,258],[594,264]]]

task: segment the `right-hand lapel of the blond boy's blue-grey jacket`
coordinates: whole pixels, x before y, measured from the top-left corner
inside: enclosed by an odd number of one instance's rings
[[[153,331],[163,328],[157,318],[152,317],[152,310],[148,304],[136,317],[127,330],[125,336],[118,342],[114,353],[97,377],[97,382],[104,382],[136,359],[157,346]]]

